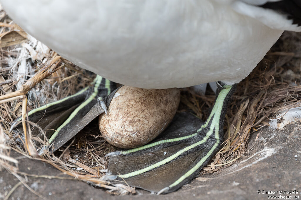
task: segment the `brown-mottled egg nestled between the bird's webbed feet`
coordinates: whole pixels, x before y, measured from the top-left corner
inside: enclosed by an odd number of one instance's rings
[[[178,109],[180,91],[123,86],[115,93],[108,115],[99,116],[104,139],[120,148],[151,142],[169,125]]]

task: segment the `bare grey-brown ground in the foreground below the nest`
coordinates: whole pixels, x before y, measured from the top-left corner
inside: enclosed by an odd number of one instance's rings
[[[160,196],[144,190],[137,190],[137,195],[111,196],[101,189],[62,175],[48,164],[30,160],[14,152],[11,155],[20,162],[20,171],[53,176],[51,179],[27,176],[28,185],[46,199],[268,199],[272,194],[262,193],[273,191],[277,191],[278,194],[274,196],[278,199],[285,198],[283,196],[300,199],[300,130],[301,123],[298,122],[287,125],[282,131],[265,128],[253,133],[247,153],[234,165],[214,174],[202,175],[178,191]],[[0,198],[4,199],[19,181],[7,171],[0,173]],[[279,190],[298,194],[279,194]],[[9,199],[40,198],[23,184],[19,184]]]

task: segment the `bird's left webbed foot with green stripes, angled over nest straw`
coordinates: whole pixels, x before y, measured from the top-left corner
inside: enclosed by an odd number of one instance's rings
[[[35,144],[40,145],[39,140],[46,140],[40,154],[45,150],[55,151],[69,139],[75,136],[90,121],[107,112],[112,93],[116,84],[96,76],[90,87],[68,96],[64,99],[48,103],[27,113],[29,121],[38,127],[32,127]],[[114,91],[114,92],[112,92]],[[11,126],[11,130],[19,134],[22,139],[23,127],[20,124],[21,117],[17,118]]]

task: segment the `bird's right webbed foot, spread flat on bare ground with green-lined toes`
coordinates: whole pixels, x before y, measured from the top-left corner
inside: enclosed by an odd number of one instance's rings
[[[189,182],[219,151],[225,113],[234,90],[235,85],[218,83],[215,104],[201,127],[194,115],[180,113],[154,142],[107,154],[111,157],[105,178],[124,179],[133,187],[159,194]]]

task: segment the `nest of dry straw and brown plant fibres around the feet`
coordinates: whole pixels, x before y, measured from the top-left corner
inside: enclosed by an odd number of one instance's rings
[[[26,186],[18,161],[10,157],[10,151],[14,150],[108,193],[134,194],[135,188],[101,180],[108,166],[104,155],[118,149],[102,138],[95,121],[44,158],[34,153],[29,155],[30,151],[34,152],[33,146],[29,145],[26,150],[18,147],[14,142],[16,136],[9,129],[22,111],[75,94],[89,85],[95,75],[64,60],[26,34],[4,10],[0,11],[0,38],[0,171],[8,170]],[[285,32],[253,72],[237,85],[225,118],[225,142],[199,175],[232,165],[246,152],[250,134],[258,137],[260,129],[268,126],[268,121],[277,113],[300,106],[300,38],[299,33]],[[33,76],[35,79],[31,79]],[[201,96],[183,88],[178,112],[193,112],[205,121],[214,100],[215,94],[210,89]]]

